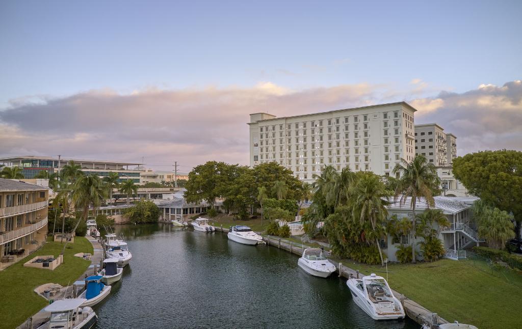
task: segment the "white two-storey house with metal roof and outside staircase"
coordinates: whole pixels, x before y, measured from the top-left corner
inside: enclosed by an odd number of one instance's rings
[[[450,259],[461,259],[466,258],[467,248],[473,244],[483,242],[479,239],[477,233],[477,226],[471,218],[471,205],[465,202],[456,200],[455,198],[448,198],[443,196],[436,196],[433,198],[435,206],[432,209],[440,209],[446,215],[450,225],[448,227],[441,228],[439,239],[444,243],[446,249],[446,258]],[[419,198],[416,203],[416,214],[423,213],[426,209],[429,209],[428,203],[424,198]],[[413,216],[411,209],[411,198],[407,198],[406,202],[400,203],[398,200],[393,201],[387,206],[388,215],[392,217],[394,215],[397,218]],[[402,238],[402,242],[406,245],[411,243],[412,236]],[[416,237],[416,242],[419,242],[422,238]],[[394,243],[397,242],[397,243]],[[399,247],[398,241],[394,241],[392,236],[387,237],[387,241],[381,241],[381,247],[385,249],[387,257],[390,261],[397,261],[395,252]],[[416,246],[416,250],[420,251],[419,245]]]

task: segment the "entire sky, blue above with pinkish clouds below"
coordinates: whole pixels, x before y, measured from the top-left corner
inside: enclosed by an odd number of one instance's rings
[[[407,101],[522,150],[522,2],[0,1],[0,156],[248,164],[248,114]]]

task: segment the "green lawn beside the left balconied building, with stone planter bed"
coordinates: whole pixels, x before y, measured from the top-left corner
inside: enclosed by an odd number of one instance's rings
[[[91,262],[74,257],[78,252],[93,253],[91,243],[84,237],[75,237],[74,243],[67,244],[64,263],[54,271],[23,267],[23,263],[37,255],[57,257],[62,248],[60,242],[45,243],[38,251],[0,272],[0,328],[17,327],[45,307],[48,302],[34,293],[34,288],[51,282],[62,286],[72,284],[87,270]]]

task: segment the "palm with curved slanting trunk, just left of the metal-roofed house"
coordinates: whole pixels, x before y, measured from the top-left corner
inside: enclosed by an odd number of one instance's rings
[[[371,224],[372,232],[370,235],[375,240],[379,257],[381,257],[381,264],[384,265],[383,252],[378,238],[383,234],[382,223],[386,221],[388,216],[387,202],[384,200],[390,197],[390,193],[386,190],[380,177],[373,173],[362,174],[351,191],[353,213],[360,214],[361,225],[365,222]]]

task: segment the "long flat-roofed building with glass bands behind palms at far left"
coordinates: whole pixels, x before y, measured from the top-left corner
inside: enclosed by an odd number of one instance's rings
[[[74,161],[80,165],[81,171],[86,175],[94,174],[100,177],[108,176],[115,172],[120,176],[120,181],[132,179],[136,184],[140,182],[140,173],[144,171],[141,163],[114,162],[102,160],[82,160],[82,159],[58,159],[52,156],[15,156],[0,158],[0,164],[7,167],[18,166],[22,168],[23,177],[34,178],[41,170],[46,170],[50,174],[57,172],[64,165]]]

